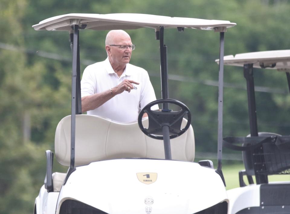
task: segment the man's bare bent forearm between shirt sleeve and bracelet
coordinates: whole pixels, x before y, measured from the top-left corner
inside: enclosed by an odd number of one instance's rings
[[[113,88],[112,88],[113,90]],[[100,107],[102,104],[110,100],[116,94],[111,90],[103,91],[98,94],[92,94],[89,96],[82,97],[82,112],[86,112],[89,110],[94,110]]]

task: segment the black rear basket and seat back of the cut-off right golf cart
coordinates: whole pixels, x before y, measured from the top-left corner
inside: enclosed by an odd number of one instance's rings
[[[247,175],[290,174],[290,136],[259,133],[253,137],[226,137],[223,145],[242,151]]]

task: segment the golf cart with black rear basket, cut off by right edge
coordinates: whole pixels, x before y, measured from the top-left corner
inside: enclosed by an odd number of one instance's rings
[[[223,142],[227,148],[242,151],[245,166],[245,170],[239,172],[240,187],[227,191],[229,212],[290,213],[290,136],[258,132],[253,78],[253,68],[272,69],[273,74],[274,70],[285,72],[290,91],[290,50],[224,56],[224,64],[243,67],[250,117],[249,136],[226,137]],[[269,182],[268,175],[273,174],[284,174],[285,182]],[[247,177],[249,185],[245,184],[243,176]]]

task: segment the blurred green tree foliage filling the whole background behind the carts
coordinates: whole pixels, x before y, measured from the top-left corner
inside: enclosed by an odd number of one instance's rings
[[[0,2],[0,213],[32,213],[43,185],[45,153],[53,151],[54,132],[70,114],[71,50],[67,32],[35,31],[31,26],[68,13],[145,13],[172,17],[229,20],[225,55],[290,48],[289,1],[278,0],[147,0]],[[159,41],[153,29],[128,30],[136,50],[132,64],[146,69],[161,97]],[[106,58],[107,32],[80,32],[81,71]],[[217,148],[219,34],[213,31],[165,30],[168,46],[169,97],[192,112],[197,151]],[[10,45],[10,46],[9,46]],[[14,48],[11,48],[13,45]],[[56,57],[48,53],[58,54]],[[43,57],[44,56],[44,57]],[[54,59],[49,59],[54,58]],[[177,76],[176,76],[177,75]],[[249,133],[247,94],[241,68],[226,66],[224,136]],[[287,92],[285,73],[254,71],[256,85]],[[174,80],[182,78],[182,81]],[[214,83],[214,84],[213,84]],[[256,92],[259,131],[289,134],[288,94]],[[65,171],[55,161],[54,171]]]

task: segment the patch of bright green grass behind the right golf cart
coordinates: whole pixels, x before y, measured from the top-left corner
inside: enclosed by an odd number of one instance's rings
[[[223,174],[224,174],[224,178],[226,181],[226,189],[233,189],[236,187],[239,187],[239,171],[243,170],[244,166],[243,164],[225,164],[223,165]],[[255,177],[253,177],[254,182],[255,182]],[[290,181],[290,174],[287,175],[270,175],[268,176],[269,182],[272,181]],[[246,184],[248,184],[247,182],[247,177],[244,176],[244,181]]]

